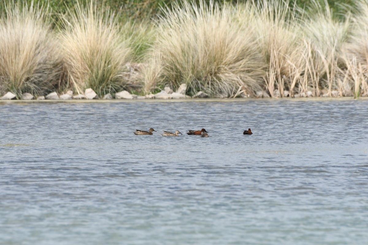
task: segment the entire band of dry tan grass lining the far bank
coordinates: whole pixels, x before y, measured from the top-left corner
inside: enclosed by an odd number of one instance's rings
[[[340,21],[325,4],[305,11],[287,0],[185,1],[163,8],[153,25],[118,24],[90,1],[69,11],[56,33],[47,8],[8,3],[0,19],[0,93],[41,95],[68,86],[103,96],[186,83],[187,94],[212,97],[262,89],[272,97],[368,96],[368,0]],[[133,69],[128,62],[144,64]]]

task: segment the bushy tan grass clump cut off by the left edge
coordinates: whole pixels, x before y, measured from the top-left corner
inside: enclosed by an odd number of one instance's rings
[[[0,17],[0,94],[43,95],[63,82],[59,46],[45,6],[9,2]]]

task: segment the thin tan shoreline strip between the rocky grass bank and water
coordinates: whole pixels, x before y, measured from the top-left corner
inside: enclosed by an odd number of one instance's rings
[[[304,98],[180,98],[180,99],[111,99],[111,100],[0,100],[3,104],[30,103],[141,103],[141,102],[247,102],[247,101],[351,101],[368,100],[368,97],[304,97]]]

